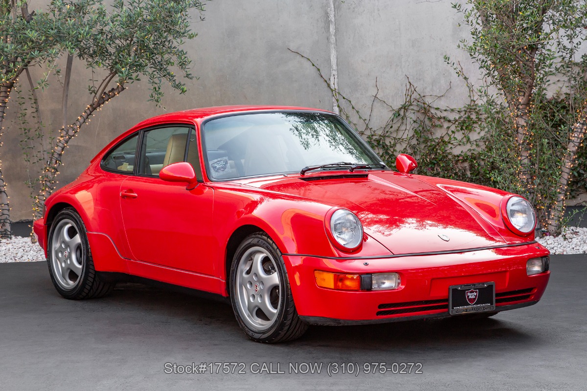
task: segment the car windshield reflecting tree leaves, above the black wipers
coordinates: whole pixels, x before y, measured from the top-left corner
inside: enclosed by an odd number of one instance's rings
[[[326,113],[231,115],[208,121],[202,134],[211,179],[300,172],[339,162],[380,163],[355,131]]]

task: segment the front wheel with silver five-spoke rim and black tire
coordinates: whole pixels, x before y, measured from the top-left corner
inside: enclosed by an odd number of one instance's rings
[[[296,311],[281,251],[265,233],[249,235],[238,247],[230,296],[238,324],[254,341],[291,341],[308,329]]]

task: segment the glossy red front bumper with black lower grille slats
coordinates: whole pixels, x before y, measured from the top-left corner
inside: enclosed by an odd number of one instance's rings
[[[530,258],[548,256],[538,243],[450,254],[381,259],[284,256],[298,314],[311,324],[367,324],[448,316],[448,287],[495,283],[496,311],[535,304],[550,272],[528,276]],[[314,271],[399,273],[402,284],[387,291],[339,291],[316,285]]]

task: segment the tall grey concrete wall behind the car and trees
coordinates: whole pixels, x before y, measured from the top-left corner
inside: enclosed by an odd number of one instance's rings
[[[306,60],[310,57],[330,76],[329,0],[214,0],[207,5],[205,21],[193,23],[197,38],[187,42],[193,74],[188,93],[166,89],[167,111],[227,104],[279,104],[332,110],[325,84]],[[447,104],[460,104],[465,96],[462,83],[443,62],[450,55],[471,75],[477,67],[456,48],[466,35],[458,28],[460,16],[450,0],[335,0],[339,89],[360,110],[368,110],[377,77],[380,96],[392,104],[403,101],[406,76],[421,93],[443,93],[453,88]],[[30,2],[29,8],[42,8]],[[194,13],[195,16],[195,13]],[[41,73],[35,71],[37,76]],[[89,103],[86,86],[91,76],[82,63],[74,63],[70,91],[70,121]],[[100,76],[100,75],[98,75]],[[52,87],[40,96],[42,118],[48,130],[60,127],[61,90],[55,77]],[[164,113],[148,103],[149,90],[135,83],[104,106],[70,142],[63,157],[60,185],[73,181],[90,159],[113,137],[153,115]],[[27,173],[18,147],[21,140],[9,104],[0,158],[11,196],[11,219],[31,218],[31,199],[24,184]],[[384,110],[376,113],[382,121]],[[34,177],[35,172],[31,172]]]

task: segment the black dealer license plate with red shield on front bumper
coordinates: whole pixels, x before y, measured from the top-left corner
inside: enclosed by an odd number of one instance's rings
[[[448,287],[448,312],[451,315],[486,311],[495,311],[495,283]]]

